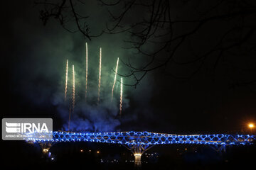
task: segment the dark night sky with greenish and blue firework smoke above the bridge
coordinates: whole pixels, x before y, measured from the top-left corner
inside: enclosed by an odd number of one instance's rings
[[[253,1],[248,2],[248,4]],[[79,3],[79,2],[77,2]],[[176,21],[196,21],[218,14],[251,10],[233,18],[207,22],[188,36],[178,47],[172,60],[164,67],[146,73],[136,86],[124,86],[124,105],[119,117],[119,80],[110,103],[117,57],[135,67],[142,67],[149,59],[134,49],[127,49],[133,40],[129,33],[107,34],[85,38],[79,31],[69,33],[54,18],[43,26],[40,19],[42,5],[33,1],[5,1],[1,10],[1,111],[3,118],[53,118],[55,130],[66,128],[68,109],[63,106],[65,88],[65,62],[75,65],[76,104],[73,130],[117,131],[139,130],[170,133],[240,132],[248,122],[256,120],[256,51],[255,51],[255,5],[203,1],[170,1],[171,18]],[[239,4],[240,3],[240,4]],[[253,2],[255,3],[255,2]],[[242,5],[241,5],[242,4]],[[239,7],[240,6],[240,7]],[[250,6],[250,7],[246,7]],[[101,6],[99,1],[85,1],[76,6],[87,18],[92,35],[111,26],[107,8],[119,13],[122,8]],[[209,10],[211,8],[211,10]],[[246,11],[245,10],[245,11]],[[254,11],[253,11],[254,10]],[[123,21],[124,26],[146,17],[143,8],[134,8]],[[3,23],[4,22],[4,23]],[[241,23],[243,27],[241,28]],[[196,23],[174,26],[174,35],[186,33]],[[76,29],[75,23],[68,25]],[[229,29],[234,31],[220,46],[230,42],[242,42],[219,51],[211,52],[205,60],[196,60],[211,50]],[[137,31],[134,28],[134,31]],[[248,32],[248,38],[243,39]],[[135,38],[136,39],[136,38]],[[164,38],[161,39],[164,41]],[[85,42],[88,43],[88,102],[85,103]],[[176,42],[174,42],[176,43]],[[97,106],[97,81],[99,50],[102,47],[102,91]],[[144,46],[146,52],[156,50],[158,45]],[[174,50],[161,53],[155,64]],[[220,56],[220,57],[219,57]],[[218,59],[219,58],[219,59]],[[188,64],[181,64],[186,63]],[[119,74],[129,74],[131,68],[119,62]],[[71,75],[71,72],[69,72]],[[70,77],[71,78],[71,77]],[[124,84],[132,85],[132,77],[123,77]],[[71,81],[69,80],[70,96]]]

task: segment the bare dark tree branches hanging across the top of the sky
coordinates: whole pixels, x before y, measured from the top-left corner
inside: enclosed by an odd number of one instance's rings
[[[58,4],[43,1],[36,4],[44,6],[41,11],[44,24],[49,18],[55,18],[67,29],[65,23],[70,20],[64,13],[71,13],[70,17],[78,30],[67,30],[71,33],[80,31],[91,40],[93,36],[86,25],[87,16],[80,16],[75,11],[74,3],[82,1],[63,0]],[[180,7],[174,8],[177,3]],[[255,55],[256,2],[238,0],[207,3],[201,0],[100,0],[112,19],[102,33],[129,33],[129,39],[124,40],[127,48],[135,50],[144,59],[139,65],[130,62],[129,57],[127,61],[120,59],[130,68],[130,72],[119,75],[134,79],[134,84],[126,85],[136,87],[148,72],[156,69],[164,69],[166,74],[177,79],[189,79],[207,63],[211,74],[214,74],[220,60],[225,60],[225,57],[238,56],[242,60],[244,56]],[[197,47],[202,42],[207,44],[206,47]],[[186,57],[181,55],[183,50],[189,51]],[[195,67],[188,75],[180,76],[170,72],[172,64]],[[255,81],[235,82],[233,86]]]

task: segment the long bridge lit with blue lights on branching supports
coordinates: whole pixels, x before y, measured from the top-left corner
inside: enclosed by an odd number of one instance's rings
[[[102,142],[127,147],[135,157],[135,164],[141,166],[141,156],[154,145],[197,144],[225,147],[227,145],[250,145],[255,135],[173,135],[155,132],[53,132],[52,140],[31,137],[30,142],[39,142],[43,152],[48,152],[52,142]]]

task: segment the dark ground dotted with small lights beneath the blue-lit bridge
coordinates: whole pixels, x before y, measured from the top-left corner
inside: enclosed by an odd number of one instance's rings
[[[38,145],[2,141],[4,169],[134,169],[134,156],[122,145],[90,142],[57,143],[50,157]],[[252,169],[256,147],[227,147],[217,152],[202,145],[160,145],[142,156],[142,169]]]

